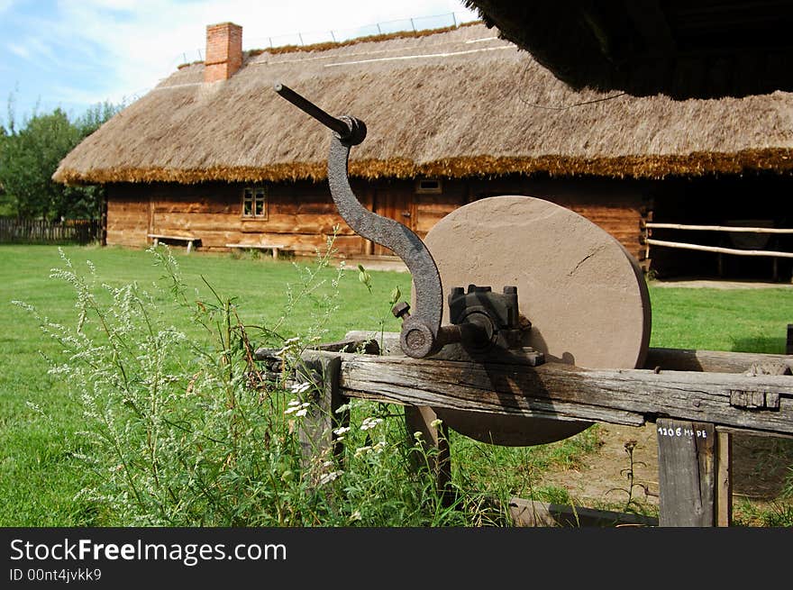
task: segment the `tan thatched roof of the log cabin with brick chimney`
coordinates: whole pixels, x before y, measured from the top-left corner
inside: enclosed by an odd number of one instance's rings
[[[330,132],[272,89],[363,120],[365,178],[664,177],[793,169],[793,95],[673,101],[575,92],[482,24],[180,68],[61,162],[68,183],[323,179]]]

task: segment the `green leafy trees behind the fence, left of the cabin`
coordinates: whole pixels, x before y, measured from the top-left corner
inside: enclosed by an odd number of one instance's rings
[[[71,122],[56,108],[52,113],[34,113],[17,130],[9,109],[9,132],[4,130],[0,141],[4,213],[50,220],[98,217],[103,187],[64,186],[53,181],[52,174],[70,150],[119,110],[113,104],[96,104]]]

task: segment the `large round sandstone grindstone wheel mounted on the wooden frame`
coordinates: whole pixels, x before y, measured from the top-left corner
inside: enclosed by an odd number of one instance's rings
[[[530,196],[495,196],[456,209],[424,242],[454,286],[517,286],[524,339],[546,362],[582,368],[643,366],[650,296],[641,268],[606,231],[578,213]],[[443,323],[449,323],[444,304]],[[435,409],[452,430],[504,446],[562,440],[591,426],[522,416]]]

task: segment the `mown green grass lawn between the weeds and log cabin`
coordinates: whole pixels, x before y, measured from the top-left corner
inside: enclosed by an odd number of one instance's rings
[[[142,250],[67,247],[64,251],[83,271],[87,271],[87,260],[93,262],[98,282],[111,286],[132,281],[150,286],[163,274],[154,266],[152,255]],[[196,298],[208,297],[212,286],[222,297],[236,297],[244,322],[265,326],[276,325],[283,315],[289,286],[294,292],[299,290],[299,268],[312,266],[310,260],[293,265],[229,254],[186,256],[177,251],[175,256]],[[107,523],[93,504],[75,499],[87,477],[72,457],[78,449],[71,446],[76,439],[70,436],[80,430],[81,413],[69,402],[64,384],[48,375],[44,358],[57,356],[59,346],[44,338],[30,313],[12,303],[31,304],[55,322],[76,322],[71,287],[49,277],[50,268],[62,264],[56,247],[0,246],[0,526]],[[340,339],[351,330],[398,331],[388,300],[396,286],[403,298],[409,297],[409,275],[370,271],[369,292],[358,274],[357,268],[350,268],[342,277],[338,310],[322,332],[323,340]],[[281,329],[284,337],[316,329],[317,310],[323,295],[334,292],[335,276],[335,269],[325,269],[324,285],[296,304],[288,325]],[[651,345],[656,347],[783,353],[786,327],[793,322],[793,290],[789,288],[716,290],[651,285],[651,296]],[[170,305],[169,319],[175,325],[192,335],[201,333],[184,309]],[[42,414],[49,418],[43,419]],[[553,449],[499,449],[497,453],[488,450],[487,455],[483,446],[469,445],[467,473],[474,485],[483,484],[487,477],[511,477],[507,485],[518,491],[521,469],[517,467],[530,460],[541,467],[548,461],[570,460],[593,447],[588,439],[591,436],[579,435],[556,443]],[[557,457],[559,449],[561,457]],[[503,460],[502,468],[495,468],[494,460]],[[505,475],[512,471],[514,476]]]

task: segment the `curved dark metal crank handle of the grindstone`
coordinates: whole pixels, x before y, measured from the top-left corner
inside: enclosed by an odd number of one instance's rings
[[[392,250],[405,262],[413,277],[415,309],[413,313],[403,314],[402,350],[409,357],[423,359],[440,351],[445,344],[459,340],[457,328],[441,327],[441,275],[424,241],[406,225],[369,211],[352,192],[348,176],[350,150],[366,137],[366,125],[354,117],[334,117],[283,84],[276,84],[274,90],[334,132],[328,155],[328,183],[333,203],[353,231]]]

